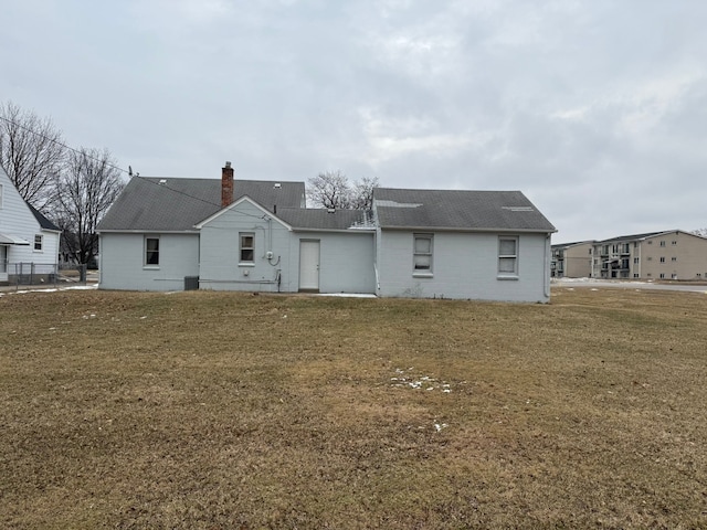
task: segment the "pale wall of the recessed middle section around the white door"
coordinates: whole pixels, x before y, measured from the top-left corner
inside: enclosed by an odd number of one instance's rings
[[[373,232],[297,232],[294,237],[289,275],[295,284],[299,277],[299,241],[318,241],[319,293],[376,293]]]

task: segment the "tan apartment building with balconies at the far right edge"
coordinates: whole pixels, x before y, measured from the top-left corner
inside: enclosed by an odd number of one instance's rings
[[[674,230],[595,241],[592,248],[591,276],[625,279],[705,279],[707,237]]]

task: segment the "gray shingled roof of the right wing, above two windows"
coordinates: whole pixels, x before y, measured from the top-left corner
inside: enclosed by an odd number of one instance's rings
[[[556,231],[520,191],[376,188],[373,200],[381,229]]]

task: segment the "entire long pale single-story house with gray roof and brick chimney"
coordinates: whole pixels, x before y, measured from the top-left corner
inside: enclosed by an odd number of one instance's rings
[[[555,227],[519,191],[373,190],[305,208],[303,182],[134,177],[98,225],[104,289],[548,301]]]

